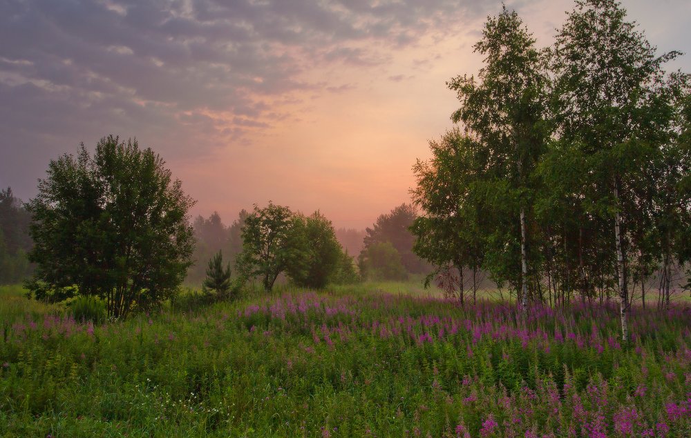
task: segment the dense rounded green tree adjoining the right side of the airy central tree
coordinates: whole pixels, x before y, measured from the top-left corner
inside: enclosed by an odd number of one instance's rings
[[[307,217],[299,216],[301,223],[296,233],[301,233],[305,240],[307,252],[305,263],[292,263],[287,273],[298,286],[321,289],[339,267],[341,262],[341,244],[331,221],[319,211]],[[297,268],[297,269],[296,269]]]

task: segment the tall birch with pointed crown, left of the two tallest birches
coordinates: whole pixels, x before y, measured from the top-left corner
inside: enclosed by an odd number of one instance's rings
[[[474,46],[475,52],[485,57],[477,79],[464,75],[447,83],[462,103],[451,118],[463,123],[469,138],[460,141],[453,139],[458,134],[447,135],[444,141],[451,145],[445,147],[451,147],[451,156],[432,145],[433,150],[445,153],[437,154],[432,163],[437,169],[431,172],[448,172],[451,166],[460,170],[458,180],[451,186],[446,183],[444,188],[445,193],[452,192],[455,199],[460,198],[456,207],[460,212],[448,207],[440,212],[439,206],[433,206],[435,210],[430,212],[446,221],[446,227],[453,221],[464,221],[456,225],[461,227],[459,234],[465,228],[470,236],[460,236],[464,239],[461,248],[477,250],[478,242],[473,237],[482,239],[484,268],[491,277],[498,284],[508,282],[515,292],[524,286],[524,293],[531,297],[537,295],[535,265],[539,257],[533,248],[538,233],[532,210],[540,181],[533,175],[549,137],[545,120],[547,73],[542,68],[543,54],[535,42],[518,14],[504,6],[501,14],[487,19],[482,39]],[[450,159],[455,162],[444,162]],[[418,174],[424,170],[416,169]],[[425,177],[439,179],[441,184],[448,179],[446,175],[422,176]],[[424,189],[418,190],[417,195],[418,202],[435,196]],[[482,216],[477,215],[479,209]],[[457,237],[444,238],[450,247],[456,244],[452,239]],[[522,247],[526,248],[524,255]],[[474,261],[457,257],[453,263],[472,267],[477,257],[471,259]],[[526,265],[525,273],[521,262]]]

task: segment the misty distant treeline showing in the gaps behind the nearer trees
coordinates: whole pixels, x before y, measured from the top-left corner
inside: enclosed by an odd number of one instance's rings
[[[225,261],[235,266],[243,250],[242,228],[249,212],[243,209],[229,225],[223,223],[218,212],[205,218],[193,219],[195,237],[193,264],[187,271],[185,282],[198,286],[206,276],[207,262],[219,251]],[[401,204],[382,214],[372,228],[357,230],[339,228],[335,236],[343,250],[357,260],[362,279],[400,280],[408,274],[429,270],[428,264],[413,253],[415,237],[409,228],[417,214],[413,206]],[[0,191],[0,283],[18,283],[32,273],[27,252],[33,243],[29,235],[31,215],[12,189]]]

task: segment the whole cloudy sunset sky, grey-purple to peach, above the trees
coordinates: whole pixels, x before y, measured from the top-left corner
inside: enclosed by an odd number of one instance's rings
[[[691,2],[624,0],[659,49],[691,52]],[[507,1],[549,46],[574,3]],[[491,0],[0,0],[0,187],[136,137],[225,223],[269,200],[337,228],[410,202],[412,166],[477,74]],[[670,69],[691,72],[691,54]]]

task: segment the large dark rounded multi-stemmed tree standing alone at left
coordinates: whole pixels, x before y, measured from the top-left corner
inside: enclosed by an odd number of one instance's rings
[[[37,269],[34,292],[76,286],[106,300],[108,316],[159,306],[184,279],[193,250],[187,212],[194,201],[136,140],[102,138],[93,157],[50,161],[28,203]]]

